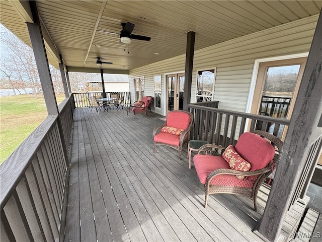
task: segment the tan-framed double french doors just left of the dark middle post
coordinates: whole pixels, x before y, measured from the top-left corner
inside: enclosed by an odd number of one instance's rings
[[[183,97],[185,88],[185,74],[171,74],[166,76],[167,91],[167,113],[172,110],[183,109]]]

